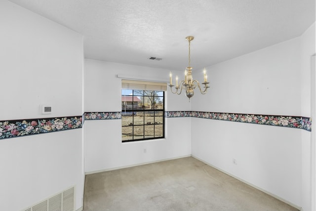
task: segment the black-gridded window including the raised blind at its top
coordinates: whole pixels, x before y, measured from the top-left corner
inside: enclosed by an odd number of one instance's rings
[[[136,82],[122,80],[122,142],[163,138],[165,83]]]

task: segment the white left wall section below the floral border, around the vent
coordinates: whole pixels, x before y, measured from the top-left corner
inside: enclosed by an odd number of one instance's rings
[[[71,186],[82,207],[81,129],[0,141],[0,210],[20,211]]]

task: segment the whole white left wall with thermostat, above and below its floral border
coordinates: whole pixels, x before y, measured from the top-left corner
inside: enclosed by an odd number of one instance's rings
[[[82,115],[82,36],[0,1],[0,120]],[[50,115],[40,104],[51,103]],[[76,185],[82,206],[81,129],[0,140],[0,210],[18,211]]]

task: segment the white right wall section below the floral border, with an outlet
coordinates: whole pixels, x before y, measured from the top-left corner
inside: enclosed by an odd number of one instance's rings
[[[192,155],[300,206],[300,134],[293,128],[193,118]]]

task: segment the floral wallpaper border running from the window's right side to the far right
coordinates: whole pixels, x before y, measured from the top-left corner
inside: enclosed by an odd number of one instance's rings
[[[211,120],[223,120],[258,125],[300,128],[305,129],[307,131],[312,130],[312,121],[309,117],[278,116],[263,114],[235,114],[200,111],[166,111],[164,116],[166,118],[197,117]]]

